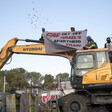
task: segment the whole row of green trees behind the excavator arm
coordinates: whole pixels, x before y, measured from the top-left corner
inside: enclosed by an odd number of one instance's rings
[[[15,90],[23,90],[28,86],[40,86],[43,88],[53,89],[58,78],[60,82],[69,81],[68,73],[60,73],[56,75],[56,79],[51,74],[46,74],[45,77],[39,72],[27,72],[23,68],[0,71],[0,92],[3,91],[4,76],[6,76],[6,92]],[[42,83],[43,82],[43,83]]]

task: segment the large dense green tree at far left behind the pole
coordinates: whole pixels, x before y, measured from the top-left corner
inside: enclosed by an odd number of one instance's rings
[[[28,82],[25,80],[26,71],[23,68],[12,69],[10,71],[0,71],[1,89],[3,91],[3,77],[6,76],[6,92],[12,92],[15,90],[24,89],[28,86]]]

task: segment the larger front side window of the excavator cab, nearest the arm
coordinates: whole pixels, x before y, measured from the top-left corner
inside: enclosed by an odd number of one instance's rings
[[[87,72],[95,69],[95,55],[91,53],[79,53],[76,56],[75,74],[76,76],[83,76]]]

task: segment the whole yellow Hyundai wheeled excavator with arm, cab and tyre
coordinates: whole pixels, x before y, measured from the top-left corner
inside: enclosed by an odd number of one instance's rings
[[[16,45],[18,41],[37,43]],[[75,92],[57,100],[60,112],[112,112],[112,64],[107,48],[46,53],[44,43],[13,38],[1,49],[0,69],[13,53],[62,56],[70,60]]]

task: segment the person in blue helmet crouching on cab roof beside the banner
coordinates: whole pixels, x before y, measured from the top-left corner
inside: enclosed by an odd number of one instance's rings
[[[96,42],[93,41],[91,36],[87,36],[87,44],[83,47],[84,50],[88,49],[97,49],[97,44]]]

